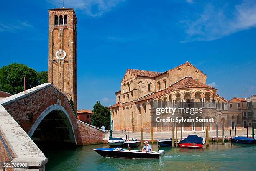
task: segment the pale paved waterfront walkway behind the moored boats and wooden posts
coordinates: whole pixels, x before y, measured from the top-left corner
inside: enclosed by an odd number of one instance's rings
[[[129,139],[131,138],[136,138],[138,140],[141,139],[141,132],[134,132],[132,133],[131,131],[126,131],[127,133],[127,137]],[[235,130],[232,130],[231,131],[232,133],[232,137],[235,136]],[[183,132],[182,133],[182,137],[187,137],[188,135],[191,135],[191,134],[195,134],[195,135],[198,135],[200,137],[206,137],[206,131],[204,132],[194,132],[194,131],[187,131],[187,132]],[[126,139],[125,137],[125,130],[123,131],[123,135],[124,135],[124,139]],[[120,130],[113,130],[112,131],[112,137],[120,137],[122,138],[123,137],[122,135],[122,131]],[[251,136],[251,128],[248,129],[248,135],[249,137]],[[175,136],[175,133],[174,133],[174,136]],[[236,136],[247,136],[247,130],[244,129],[244,130],[236,130]],[[254,135],[255,136],[255,135]],[[212,138],[215,138],[216,137],[216,131],[209,131],[209,139],[212,140]],[[222,137],[222,130],[219,130],[218,131],[218,138],[221,138]],[[224,131],[224,137],[229,137],[230,138],[230,130],[225,130]],[[169,132],[154,132],[153,133],[153,138],[154,138],[154,141],[156,140],[161,140],[161,139],[169,139],[169,138],[172,138],[172,131],[169,131]],[[178,131],[178,139],[181,138],[181,135],[180,135],[180,131]],[[105,132],[105,138],[104,140],[108,140],[108,131]],[[143,132],[143,140],[151,140],[151,133],[145,133]]]

